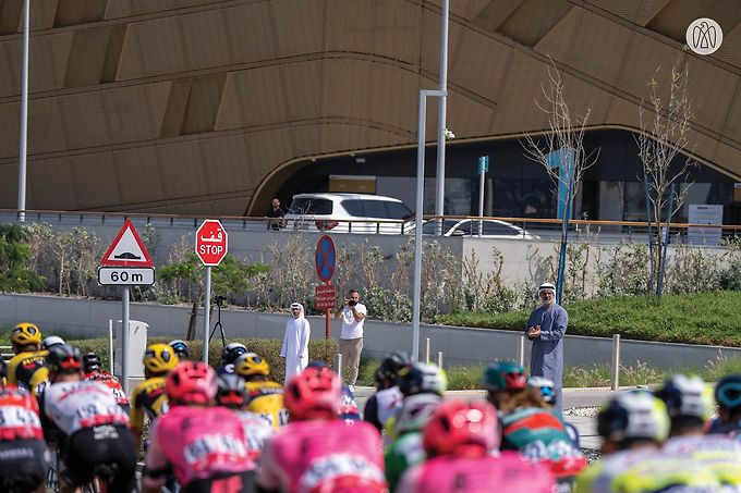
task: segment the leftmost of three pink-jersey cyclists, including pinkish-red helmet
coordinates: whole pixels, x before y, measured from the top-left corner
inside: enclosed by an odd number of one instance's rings
[[[255,464],[242,422],[231,410],[209,406],[216,372],[203,361],[183,361],[165,384],[171,408],[153,427],[142,484],[159,492],[172,471],[182,493],[254,491]]]

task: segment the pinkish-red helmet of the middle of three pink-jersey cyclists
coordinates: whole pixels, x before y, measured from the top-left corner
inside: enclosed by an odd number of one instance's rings
[[[311,367],[286,387],[283,405],[294,420],[333,419],[340,410],[340,378],[329,368]]]

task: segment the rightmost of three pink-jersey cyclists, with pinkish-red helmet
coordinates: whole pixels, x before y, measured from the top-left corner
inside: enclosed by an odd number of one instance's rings
[[[494,456],[499,445],[497,412],[488,403],[450,400],[435,410],[423,439],[428,459],[408,470],[398,493],[551,493],[545,466],[515,453]]]

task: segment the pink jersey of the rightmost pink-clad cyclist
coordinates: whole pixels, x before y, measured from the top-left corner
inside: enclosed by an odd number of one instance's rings
[[[554,478],[546,467],[529,464],[514,453],[476,458],[444,456],[409,470],[399,493],[552,493]]]

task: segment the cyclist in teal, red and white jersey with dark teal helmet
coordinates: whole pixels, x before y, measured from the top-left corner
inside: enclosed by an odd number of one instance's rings
[[[484,384],[488,400],[499,409],[500,448],[548,466],[559,490],[570,490],[586,458],[574,446],[560,414],[543,402],[538,389],[527,386],[524,369],[514,361],[495,361],[484,372]]]

